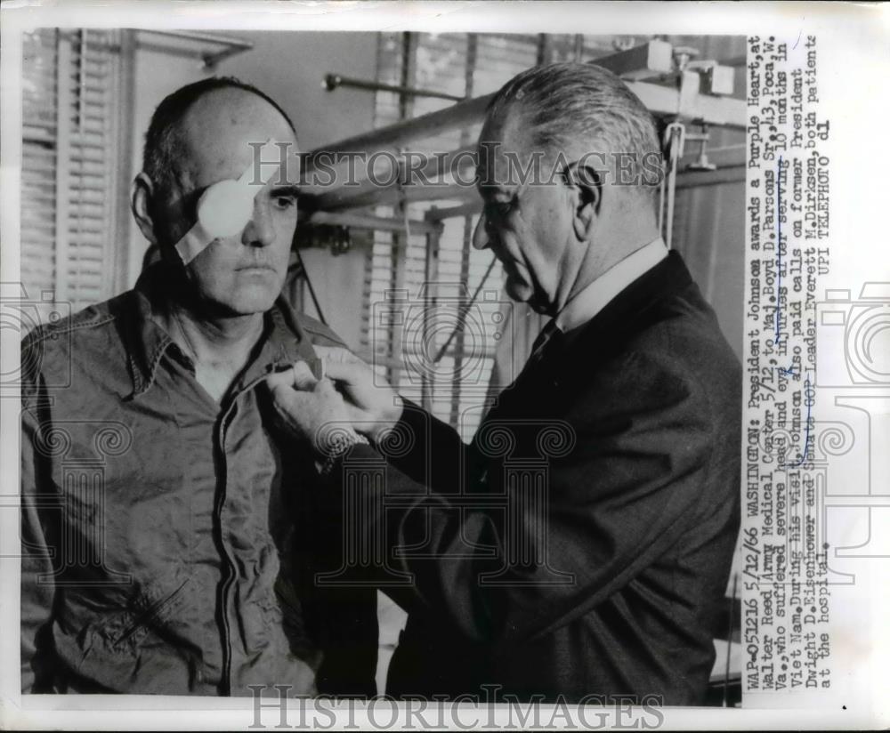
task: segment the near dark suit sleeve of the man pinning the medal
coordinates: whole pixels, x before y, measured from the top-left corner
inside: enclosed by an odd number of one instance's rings
[[[507,511],[459,508],[391,465],[377,502],[385,508],[367,511],[366,501],[360,521],[390,548],[424,550],[392,553],[412,583],[386,592],[473,640],[533,639],[587,613],[676,544],[705,489],[707,398],[688,375],[628,359],[613,389],[578,397],[587,414],[572,421],[570,453],[551,463],[546,509],[511,487]]]

